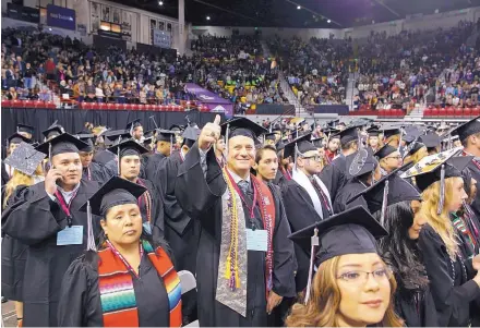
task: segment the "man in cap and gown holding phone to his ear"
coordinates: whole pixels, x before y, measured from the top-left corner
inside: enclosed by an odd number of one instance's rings
[[[79,148],[85,146],[68,133],[39,145],[36,149],[50,157],[51,169],[44,182],[28,187],[23,199],[2,214],[2,230],[29,246],[23,288],[25,327],[58,326],[63,274],[86,250],[88,220],[79,209],[98,183],[82,180]],[[94,235],[98,228],[94,227]]]

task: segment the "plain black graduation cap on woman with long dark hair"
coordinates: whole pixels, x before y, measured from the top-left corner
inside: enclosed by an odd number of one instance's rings
[[[347,204],[363,196],[372,215],[382,209],[380,223],[383,227],[387,206],[404,201],[421,201],[421,195],[417,189],[398,175],[398,172],[405,169],[406,166],[408,165],[401,166],[389,174],[382,177],[377,182],[348,199]]]

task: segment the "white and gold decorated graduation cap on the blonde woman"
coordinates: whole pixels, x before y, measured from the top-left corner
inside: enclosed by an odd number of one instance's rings
[[[445,201],[445,179],[461,177],[461,170],[468,165],[469,160],[465,159],[464,167],[454,167],[455,162],[447,162],[448,159],[457,155],[461,147],[449,149],[440,154],[434,154],[422,158],[418,163],[401,174],[401,178],[416,177],[416,184],[420,191],[427,190],[430,185],[440,181],[440,201],[437,214],[443,210]],[[471,158],[469,158],[471,160]],[[464,163],[464,162],[463,162]],[[456,163],[458,165],[458,162]]]

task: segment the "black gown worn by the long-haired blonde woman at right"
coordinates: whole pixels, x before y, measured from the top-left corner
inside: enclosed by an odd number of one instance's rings
[[[425,224],[418,240],[430,280],[440,327],[468,327],[469,306],[480,296],[477,282],[466,277],[461,259],[451,260],[440,235]]]

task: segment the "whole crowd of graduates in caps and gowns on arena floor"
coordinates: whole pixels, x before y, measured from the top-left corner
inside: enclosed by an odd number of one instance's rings
[[[21,124],[2,296],[25,326],[478,326],[480,120],[446,127]]]

